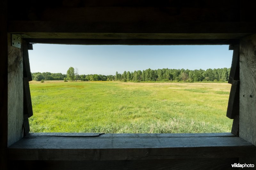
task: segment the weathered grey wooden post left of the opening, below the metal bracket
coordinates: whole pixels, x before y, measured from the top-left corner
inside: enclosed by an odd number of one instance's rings
[[[8,146],[22,138],[23,64],[20,48],[11,46],[8,34]]]

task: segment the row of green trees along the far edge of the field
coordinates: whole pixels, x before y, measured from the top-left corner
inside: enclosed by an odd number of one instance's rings
[[[122,74],[116,71],[116,75],[78,74],[78,69],[70,67],[67,74],[36,72],[31,73],[33,80],[64,80],[64,81],[227,81],[230,68],[185,70],[185,69],[146,69],[133,72],[124,71]]]

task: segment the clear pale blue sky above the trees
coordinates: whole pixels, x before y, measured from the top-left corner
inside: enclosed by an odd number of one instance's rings
[[[145,69],[229,68],[228,45],[58,45],[33,44],[29,50],[31,72],[66,74],[69,67],[79,74],[115,75],[116,71]]]

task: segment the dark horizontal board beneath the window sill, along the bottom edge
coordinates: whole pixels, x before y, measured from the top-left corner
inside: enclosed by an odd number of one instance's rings
[[[238,163],[238,158],[211,158],[211,159],[153,159],[153,160],[108,160],[108,161],[11,161],[11,169],[21,166],[31,170],[39,167],[47,170],[99,170],[99,169],[225,169],[232,170],[231,164]]]

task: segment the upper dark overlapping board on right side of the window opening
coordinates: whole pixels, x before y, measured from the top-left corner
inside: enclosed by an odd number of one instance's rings
[[[239,80],[239,44],[233,45],[233,57],[228,83],[232,84],[233,80]]]

